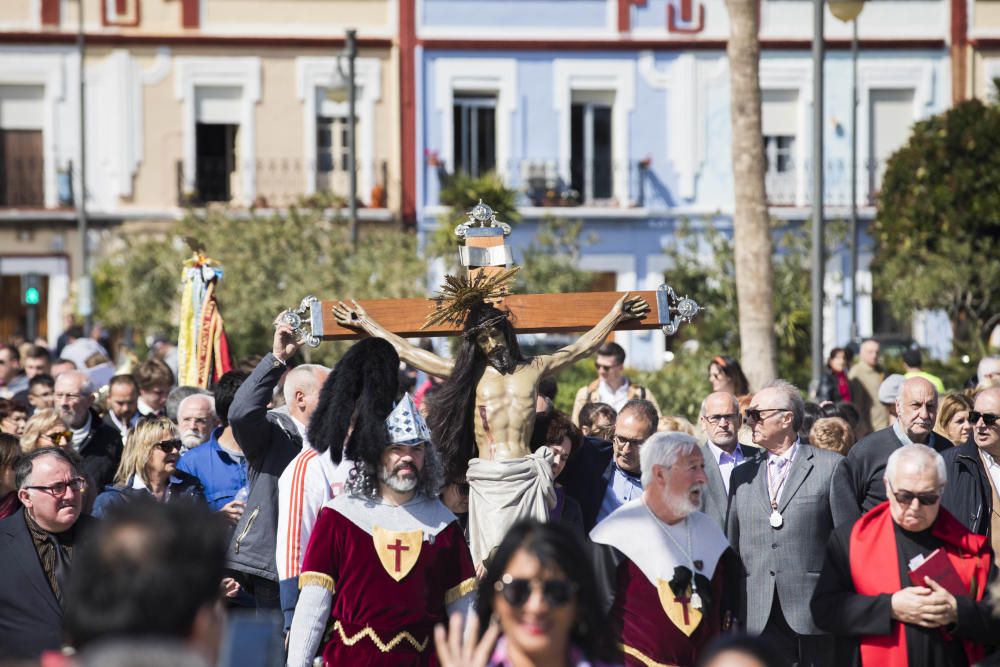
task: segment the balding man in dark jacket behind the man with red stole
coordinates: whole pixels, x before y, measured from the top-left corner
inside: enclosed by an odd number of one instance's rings
[[[889,455],[910,443],[928,445],[944,453],[952,443],[934,432],[938,394],[934,385],[922,377],[903,380],[896,396],[896,422],[862,438],[847,454],[851,484],[861,512],[867,512],[887,495],[882,479]]]

